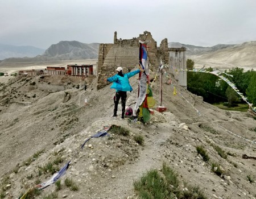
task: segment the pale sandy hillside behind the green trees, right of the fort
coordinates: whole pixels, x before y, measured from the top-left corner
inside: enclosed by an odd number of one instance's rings
[[[199,47],[180,43],[168,43],[169,47],[186,47],[187,58],[195,61],[196,67],[227,69],[244,68],[246,71],[256,69],[256,41],[242,44],[218,44],[213,47]]]

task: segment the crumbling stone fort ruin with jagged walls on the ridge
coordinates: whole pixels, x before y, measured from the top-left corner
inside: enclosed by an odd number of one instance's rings
[[[100,44],[98,51],[98,84],[97,89],[104,87],[107,83],[104,78],[113,76],[117,66],[123,68],[123,72],[129,72],[139,65],[139,40],[146,42],[150,69],[156,71],[160,60],[164,64],[172,64],[185,70],[185,48],[168,48],[167,38],[163,39],[159,47],[152,35],[144,31],[138,38],[117,39],[114,32],[113,44]],[[171,57],[171,58],[170,58]]]

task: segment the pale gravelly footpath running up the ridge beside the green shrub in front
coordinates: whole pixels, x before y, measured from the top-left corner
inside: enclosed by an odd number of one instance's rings
[[[163,163],[163,151],[159,146],[172,136],[171,132],[162,131],[161,134],[150,132],[146,135],[146,145],[139,152],[138,160],[134,163],[123,165],[115,173],[116,179],[104,188],[106,193],[98,194],[98,197],[112,194],[114,198],[126,198],[133,192],[133,182],[138,180],[146,171],[159,169]],[[153,155],[154,154],[154,155]],[[114,193],[114,194],[113,194]],[[133,196],[133,195],[131,195]]]

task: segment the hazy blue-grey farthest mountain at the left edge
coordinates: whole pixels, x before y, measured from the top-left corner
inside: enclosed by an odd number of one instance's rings
[[[42,55],[45,49],[36,48],[32,46],[15,46],[0,44],[0,60],[9,57],[35,57]]]

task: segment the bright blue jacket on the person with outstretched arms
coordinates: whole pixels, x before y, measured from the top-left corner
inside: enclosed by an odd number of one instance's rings
[[[117,92],[120,91],[132,91],[131,85],[129,83],[129,78],[133,77],[135,74],[139,73],[139,69],[133,72],[125,73],[122,76],[115,74],[113,77],[109,77],[107,81],[113,82],[111,89],[116,89]]]

